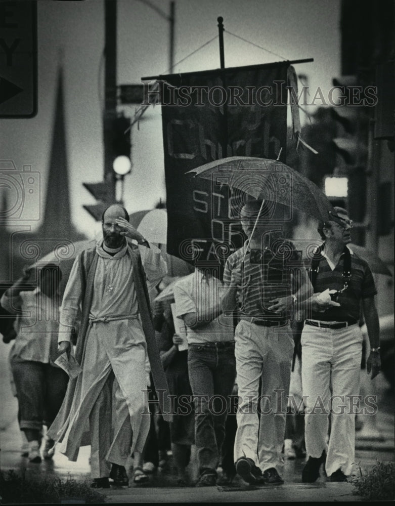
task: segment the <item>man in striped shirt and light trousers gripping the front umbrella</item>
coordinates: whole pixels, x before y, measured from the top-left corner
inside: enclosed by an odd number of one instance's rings
[[[240,318],[235,331],[239,406],[234,458],[237,473],[250,484],[284,483],[279,471],[294,350],[290,311],[313,293],[302,263],[298,275],[291,276],[289,265],[295,270],[299,259],[279,232],[277,213],[271,203],[247,200],[240,221],[248,240],[228,258],[224,271],[223,311],[237,308]],[[277,225],[271,225],[273,219]],[[269,400],[269,406],[260,399]],[[260,418],[259,409],[264,409]]]

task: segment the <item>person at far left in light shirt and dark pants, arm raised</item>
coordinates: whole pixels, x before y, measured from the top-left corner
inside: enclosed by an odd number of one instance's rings
[[[59,266],[37,268],[37,288],[25,291],[32,269],[2,296],[0,303],[19,315],[11,368],[19,404],[19,424],[28,441],[30,462],[41,462],[42,425],[50,428],[66,393],[68,375],[55,365],[59,332]],[[47,438],[43,457],[50,459],[54,441]]]

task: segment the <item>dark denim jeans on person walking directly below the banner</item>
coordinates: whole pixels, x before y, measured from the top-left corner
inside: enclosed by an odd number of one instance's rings
[[[190,345],[188,349],[200,475],[216,473],[225,440],[229,396],[236,377],[236,359],[234,343],[223,345]]]

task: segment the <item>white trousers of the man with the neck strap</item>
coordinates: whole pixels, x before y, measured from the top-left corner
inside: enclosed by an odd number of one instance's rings
[[[357,409],[352,404],[358,404],[355,396],[360,393],[362,341],[358,325],[340,329],[312,325],[304,325],[303,328],[302,390],[306,405],[306,451],[309,456],[317,458],[326,449],[328,413],[331,413],[325,466],[328,476],[338,469],[345,475],[352,471]]]

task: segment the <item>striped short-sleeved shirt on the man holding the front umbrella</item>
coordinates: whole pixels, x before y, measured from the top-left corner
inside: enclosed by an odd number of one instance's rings
[[[237,292],[239,316],[284,323],[287,319],[285,315],[269,311],[272,306],[269,301],[292,293],[290,272],[292,264],[296,266],[299,261],[297,251],[291,242],[285,240],[272,241],[270,248],[248,250],[247,242],[228,258],[224,271],[225,286],[230,285],[232,271],[241,268],[242,287]]]

